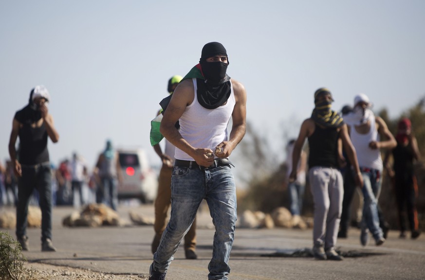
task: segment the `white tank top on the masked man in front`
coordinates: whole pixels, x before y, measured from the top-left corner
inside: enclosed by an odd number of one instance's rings
[[[180,134],[194,148],[215,150],[222,141],[227,141],[227,124],[235,107],[235,95],[230,82],[230,97],[227,103],[216,109],[206,109],[198,102],[196,78],[192,79],[194,91],[193,102],[185,108],[180,117]],[[176,147],[176,159],[194,160]]]

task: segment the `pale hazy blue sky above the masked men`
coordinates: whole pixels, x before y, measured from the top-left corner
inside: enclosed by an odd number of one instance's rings
[[[76,151],[92,166],[111,139],[149,143],[167,80],[198,63],[205,43],[227,49],[246,88],[247,120],[283,155],[328,87],[333,108],[366,93],[391,117],[425,96],[425,1],[0,1],[0,159],[15,112],[44,85],[60,134],[51,160]],[[285,127],[296,127],[287,131]]]

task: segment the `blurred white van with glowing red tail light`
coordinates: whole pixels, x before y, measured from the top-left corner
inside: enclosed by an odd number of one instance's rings
[[[150,168],[143,149],[117,149],[123,181],[118,184],[118,199],[138,198],[152,203],[158,190],[158,177]]]

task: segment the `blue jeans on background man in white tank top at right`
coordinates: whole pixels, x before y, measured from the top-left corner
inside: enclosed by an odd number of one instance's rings
[[[379,227],[378,197],[381,192],[381,171],[376,169],[361,169],[363,176],[363,216],[362,229],[369,228],[375,240],[383,237]]]

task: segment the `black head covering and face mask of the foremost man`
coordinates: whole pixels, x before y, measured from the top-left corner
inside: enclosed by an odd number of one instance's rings
[[[206,59],[215,55],[227,56],[226,49],[218,42],[210,42],[203,46],[201,53],[201,69],[205,80],[197,79],[198,102],[207,109],[215,109],[223,105],[230,96],[230,77],[226,74],[227,63],[207,62]]]

